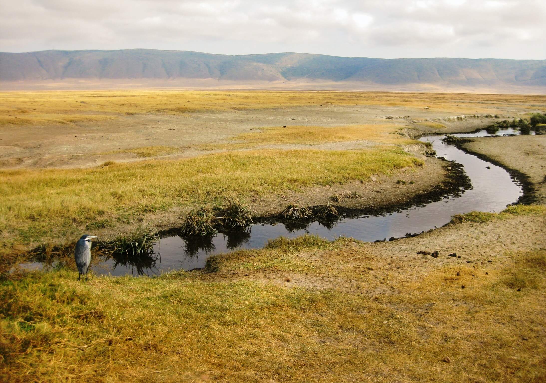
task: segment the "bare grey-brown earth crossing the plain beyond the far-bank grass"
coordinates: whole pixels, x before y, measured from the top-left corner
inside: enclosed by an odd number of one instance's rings
[[[514,109],[515,108],[515,109]],[[501,118],[527,111],[526,106],[499,109]],[[245,111],[192,113],[189,117],[149,113],[119,116],[105,122],[51,124],[48,126],[0,127],[0,169],[44,167],[89,167],[105,161],[135,161],[143,158],[124,149],[149,146],[175,147],[161,158],[185,158],[211,153],[202,144],[226,140],[260,127],[283,125],[336,126],[347,124],[395,124],[423,128],[420,121],[446,125],[437,133],[469,131],[490,123],[488,118],[453,121],[447,112],[400,106],[300,106]],[[370,141],[338,143],[324,148],[372,146]],[[272,146],[268,146],[272,147]],[[313,146],[322,148],[322,146]],[[120,152],[121,151],[121,152]],[[115,152],[115,153],[112,153]]]

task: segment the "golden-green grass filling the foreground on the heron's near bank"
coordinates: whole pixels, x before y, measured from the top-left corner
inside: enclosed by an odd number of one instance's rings
[[[520,213],[545,209],[503,214]],[[546,250],[505,252],[487,268],[420,264],[428,266],[406,274],[366,249],[347,238],[304,236],[217,256],[212,273],[87,283],[66,269],[10,274],[0,280],[0,377],[544,381]],[[333,282],[312,288],[229,278],[256,270]]]

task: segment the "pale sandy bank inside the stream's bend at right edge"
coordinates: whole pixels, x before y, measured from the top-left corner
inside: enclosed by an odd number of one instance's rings
[[[530,177],[538,200],[546,203],[546,135],[515,137],[479,137],[464,148],[482,153],[511,169]]]

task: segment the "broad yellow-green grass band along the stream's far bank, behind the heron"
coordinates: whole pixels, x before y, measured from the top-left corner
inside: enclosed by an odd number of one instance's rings
[[[91,169],[0,171],[3,243],[70,236],[104,219],[132,222],[151,212],[215,204],[224,196],[365,181],[423,161],[396,147],[355,151],[263,150],[150,160]]]

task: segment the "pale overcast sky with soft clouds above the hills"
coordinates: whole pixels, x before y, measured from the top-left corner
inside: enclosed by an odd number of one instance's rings
[[[0,51],[546,58],[546,0],[0,0]]]

